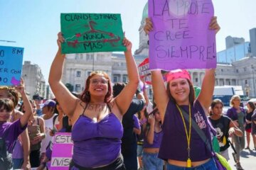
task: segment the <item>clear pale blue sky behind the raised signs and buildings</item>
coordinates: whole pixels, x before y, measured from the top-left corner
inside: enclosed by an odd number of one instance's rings
[[[146,0],[0,0],[0,45],[24,47],[23,61],[41,67],[48,80],[50,64],[58,49],[60,13],[121,13],[123,30],[139,47],[139,26]],[[221,30],[216,35],[217,51],[225,50],[225,37],[250,41],[249,30],[256,28],[255,0],[213,0]]]

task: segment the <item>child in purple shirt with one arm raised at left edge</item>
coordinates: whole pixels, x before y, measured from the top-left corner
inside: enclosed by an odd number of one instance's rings
[[[11,117],[11,112],[14,111],[14,103],[9,98],[0,99],[0,137],[4,139],[6,149],[9,153],[12,152],[14,142],[17,140],[18,135],[20,135],[21,132],[26,129],[28,119],[33,112],[31,103],[28,101],[28,97],[26,96],[22,79],[21,84],[19,86],[15,86],[15,89],[21,94],[24,107],[26,108],[27,112],[24,113],[18,120],[10,123],[8,120]],[[6,167],[6,169],[11,169],[11,166]]]

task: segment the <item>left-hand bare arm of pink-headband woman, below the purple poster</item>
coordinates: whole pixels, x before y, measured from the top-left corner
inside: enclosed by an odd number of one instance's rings
[[[160,69],[151,71],[151,81],[154,92],[154,100],[157,108],[159,109],[161,121],[163,123],[169,96],[166,93],[166,86],[164,85],[164,80]]]

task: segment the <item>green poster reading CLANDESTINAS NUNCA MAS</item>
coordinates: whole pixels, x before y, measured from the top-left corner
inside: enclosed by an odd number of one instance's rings
[[[125,51],[118,13],[61,13],[62,53]]]

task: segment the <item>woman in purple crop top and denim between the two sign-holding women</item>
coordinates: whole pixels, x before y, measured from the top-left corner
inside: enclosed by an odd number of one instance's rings
[[[144,128],[143,168],[147,170],[162,170],[164,161],[157,156],[163,137],[163,130],[161,128],[161,117],[157,108],[149,114],[148,124]]]

